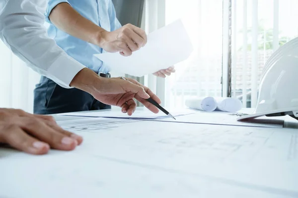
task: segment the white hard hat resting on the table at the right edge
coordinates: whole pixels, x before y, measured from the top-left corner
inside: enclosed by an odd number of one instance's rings
[[[237,120],[290,115],[298,119],[298,38],[276,50],[265,64],[255,111]]]

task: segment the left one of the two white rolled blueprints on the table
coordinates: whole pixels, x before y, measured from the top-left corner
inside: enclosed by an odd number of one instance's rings
[[[189,108],[203,111],[214,111],[217,108],[217,102],[213,97],[188,99],[186,100],[185,104]]]

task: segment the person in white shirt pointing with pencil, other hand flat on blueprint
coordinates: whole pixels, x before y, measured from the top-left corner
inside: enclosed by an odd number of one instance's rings
[[[158,103],[161,101],[147,87],[129,78],[122,80],[99,77],[49,39],[43,25],[46,7],[46,0],[0,0],[0,39],[14,54],[33,70],[60,86],[85,91],[105,104],[121,107],[124,113],[133,114],[137,107],[134,99],[142,102],[152,112],[158,112],[146,99],[151,97]],[[125,32],[121,35],[128,39],[111,38],[114,42],[111,41],[113,46],[110,47],[119,52],[124,51],[123,48],[131,42],[130,35]],[[142,34],[146,44],[146,34]],[[51,117],[39,117],[14,109],[1,109],[0,114],[0,143],[8,143],[26,152],[42,154],[50,147],[69,150],[81,142],[80,137],[61,129]]]

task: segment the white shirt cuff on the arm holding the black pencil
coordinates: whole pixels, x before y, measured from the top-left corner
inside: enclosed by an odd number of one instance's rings
[[[61,87],[71,88],[70,84],[74,76],[83,68],[86,68],[74,58],[62,54],[48,68],[48,78],[58,83]]]

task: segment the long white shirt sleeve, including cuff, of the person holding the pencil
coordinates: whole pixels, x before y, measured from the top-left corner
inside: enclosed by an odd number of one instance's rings
[[[47,0],[0,0],[0,39],[33,70],[64,88],[83,68],[48,38]]]

